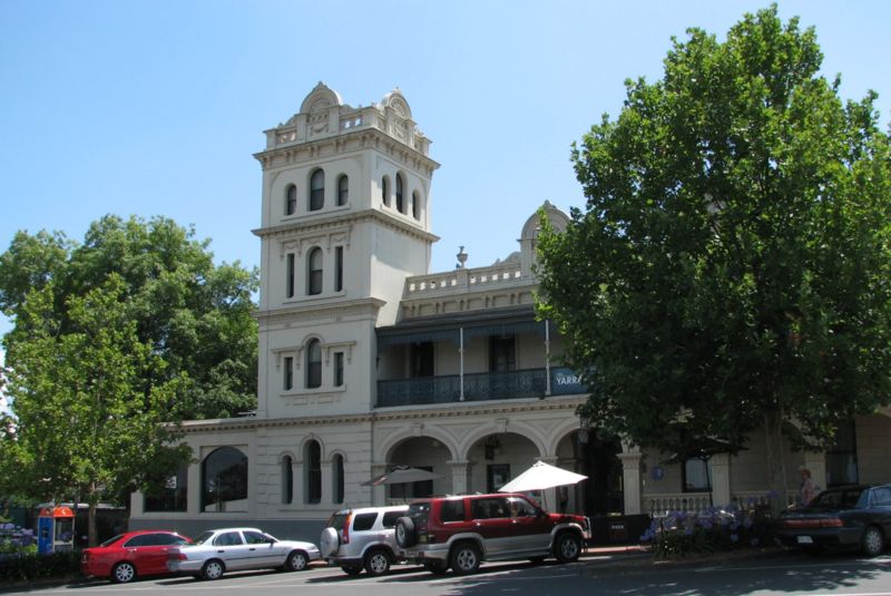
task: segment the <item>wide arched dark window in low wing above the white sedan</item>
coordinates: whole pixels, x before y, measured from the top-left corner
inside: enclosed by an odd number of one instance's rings
[[[202,511],[247,511],[247,456],[221,447],[202,461]]]

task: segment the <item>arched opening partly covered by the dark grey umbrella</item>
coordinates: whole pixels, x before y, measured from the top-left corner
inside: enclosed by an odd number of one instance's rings
[[[388,485],[388,502],[402,502],[411,499],[447,495],[452,490],[451,459],[449,448],[433,437],[412,437],[396,444],[388,460],[388,469],[394,466],[420,468],[439,475],[440,478],[420,482]]]

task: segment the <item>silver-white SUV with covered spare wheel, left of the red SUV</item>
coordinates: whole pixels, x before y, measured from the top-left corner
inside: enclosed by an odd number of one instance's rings
[[[349,575],[359,575],[363,568],[369,575],[385,574],[390,565],[402,560],[395,525],[408,510],[408,505],[400,505],[335,511],[322,530],[322,556]]]

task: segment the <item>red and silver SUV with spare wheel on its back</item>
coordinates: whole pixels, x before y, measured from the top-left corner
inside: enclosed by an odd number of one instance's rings
[[[549,514],[525,495],[434,497],[411,504],[396,521],[396,544],[407,559],[432,573],[449,567],[474,573],[482,560],[549,556],[571,563],[590,538],[582,516]]]

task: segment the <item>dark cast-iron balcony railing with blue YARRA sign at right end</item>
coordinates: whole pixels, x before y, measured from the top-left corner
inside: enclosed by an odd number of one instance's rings
[[[586,392],[569,369],[554,368],[550,372],[551,394]],[[548,390],[547,374],[547,369],[464,374],[463,400],[461,378],[458,374],[378,381],[378,407],[545,398]]]

